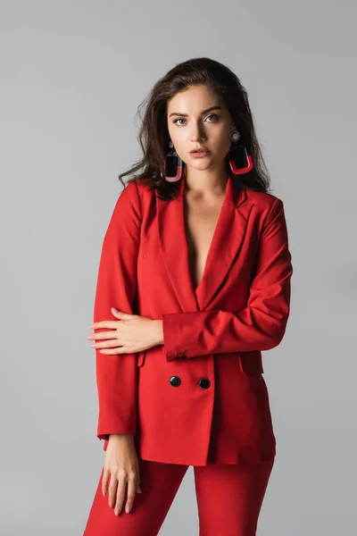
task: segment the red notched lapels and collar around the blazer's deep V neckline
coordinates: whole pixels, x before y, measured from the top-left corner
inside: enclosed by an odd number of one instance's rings
[[[185,174],[180,179],[179,194],[169,201],[156,194],[158,236],[161,254],[182,312],[203,311],[220,291],[229,268],[242,245],[248,217],[253,205],[247,202],[245,188],[234,183],[228,174],[220,216],[204,266],[203,278],[195,289],[188,262],[185,230]]]

